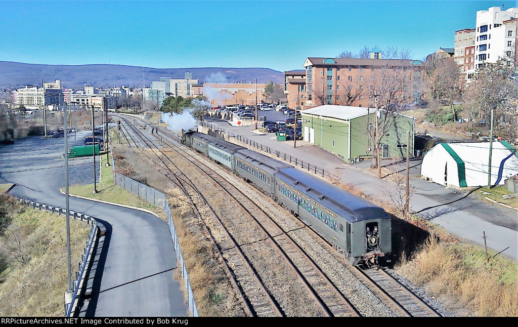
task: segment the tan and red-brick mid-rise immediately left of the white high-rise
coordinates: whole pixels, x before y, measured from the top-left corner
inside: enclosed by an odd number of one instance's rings
[[[459,66],[461,76],[459,82],[463,88],[475,73],[475,29],[455,31],[455,63]]]

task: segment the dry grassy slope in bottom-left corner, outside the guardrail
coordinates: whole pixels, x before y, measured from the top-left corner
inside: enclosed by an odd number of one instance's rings
[[[90,225],[70,220],[72,272]],[[65,216],[0,194],[0,316],[63,316],[68,288]]]

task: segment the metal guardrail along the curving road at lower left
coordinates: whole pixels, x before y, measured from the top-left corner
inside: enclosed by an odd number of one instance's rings
[[[41,204],[38,202],[28,201],[28,200],[24,200],[24,199],[20,199],[20,202],[24,203],[25,205],[27,205],[33,209],[44,210],[44,211],[52,212],[53,214],[58,214],[58,215],[66,215],[66,210],[63,208],[49,206],[46,204]],[[71,302],[64,304],[66,317],[70,317],[72,310],[74,308],[74,304],[76,303],[76,300],[78,297],[79,286],[81,285],[81,280],[83,279],[84,272],[88,265],[88,258],[90,256],[90,252],[91,252],[92,246],[94,244],[94,238],[97,235],[97,221],[95,220],[94,217],[84,215],[84,214],[81,214],[80,212],[71,211],[71,210],[68,210],[68,217],[74,218],[74,219],[79,219],[81,221],[86,222],[87,224],[91,224],[91,228],[90,228],[90,236],[87,241],[87,247],[84,248],[84,253],[81,254],[81,262],[78,263],[79,270],[76,271],[76,273],[75,273],[76,279],[72,281],[72,288],[74,289],[74,293],[72,295]]]

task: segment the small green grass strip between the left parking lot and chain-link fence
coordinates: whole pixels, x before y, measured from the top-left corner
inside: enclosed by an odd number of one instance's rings
[[[94,190],[94,184],[87,184],[70,187],[68,189],[70,194],[147,209],[155,212],[155,214],[159,215],[162,220],[167,221],[167,216],[164,209],[154,206],[150,202],[143,200],[142,198],[124,190],[115,184],[113,181],[111,152],[108,153],[108,159],[106,158],[106,154],[101,155],[101,158],[101,177],[100,182],[97,183],[97,193],[92,194],[92,191]],[[110,164],[108,167],[106,167],[106,162],[109,162]]]

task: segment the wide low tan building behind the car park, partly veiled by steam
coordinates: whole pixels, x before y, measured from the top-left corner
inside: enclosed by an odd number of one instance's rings
[[[257,84],[257,103],[264,101],[264,88],[266,84]],[[194,94],[204,95],[212,106],[245,105],[255,104],[256,84],[241,83],[204,83],[193,86]]]

